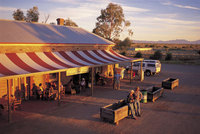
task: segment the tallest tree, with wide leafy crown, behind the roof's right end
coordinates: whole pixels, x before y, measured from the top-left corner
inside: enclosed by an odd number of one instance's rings
[[[120,33],[129,27],[131,23],[125,20],[123,9],[120,5],[110,3],[106,9],[101,10],[101,15],[97,17],[96,27],[93,33],[113,40],[120,37]],[[130,35],[133,34],[132,30],[128,29]]]

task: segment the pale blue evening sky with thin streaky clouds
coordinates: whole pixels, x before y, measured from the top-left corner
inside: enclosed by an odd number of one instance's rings
[[[0,0],[0,19],[13,20],[16,9],[37,6],[39,22],[55,22],[68,17],[88,31],[95,27],[101,9],[110,3],[122,6],[131,22],[134,40],[200,40],[200,0]],[[122,34],[121,39],[127,37]]]

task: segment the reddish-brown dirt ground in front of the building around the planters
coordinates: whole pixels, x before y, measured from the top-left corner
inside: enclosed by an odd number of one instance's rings
[[[154,103],[141,104],[142,117],[125,118],[119,125],[100,120],[100,107],[126,98],[128,91],[140,86],[161,86],[162,80],[179,78],[174,90],[165,89]],[[200,133],[200,66],[162,64],[159,75],[143,82],[122,80],[121,89],[95,86],[94,95],[66,95],[60,106],[56,101],[26,101],[13,112],[0,116],[1,134],[198,134]]]

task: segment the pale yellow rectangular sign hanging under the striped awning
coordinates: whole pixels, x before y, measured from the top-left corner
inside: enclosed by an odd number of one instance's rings
[[[89,72],[89,67],[80,67],[80,68],[70,68],[66,71],[67,76],[84,74]]]

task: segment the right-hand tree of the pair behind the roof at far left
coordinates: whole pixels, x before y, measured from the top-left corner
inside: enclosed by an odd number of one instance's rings
[[[39,11],[38,7],[34,6],[33,8],[30,8],[27,10],[26,14],[26,21],[28,22],[38,22],[39,20]]]

